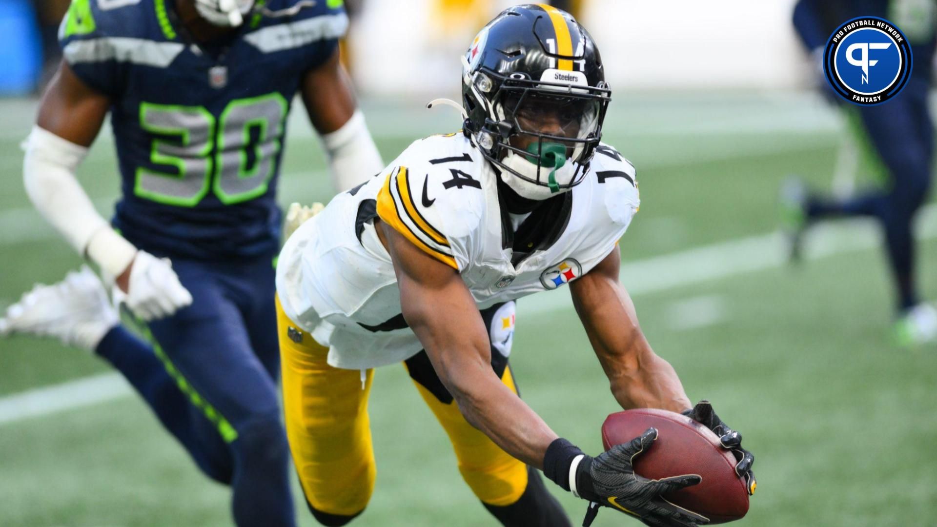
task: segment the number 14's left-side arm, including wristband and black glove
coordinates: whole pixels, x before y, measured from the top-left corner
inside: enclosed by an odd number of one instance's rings
[[[469,423],[514,458],[542,469],[544,475],[577,497],[651,525],[690,527],[706,522],[661,497],[699,483],[699,476],[651,481],[634,474],[632,459],[651,447],[657,439],[656,429],[648,429],[632,442],[618,444],[596,458],[558,438],[491,369],[487,332],[458,273],[386,223],[380,223],[378,232],[394,260],[404,318]],[[596,510],[590,509],[587,522],[595,518]]]

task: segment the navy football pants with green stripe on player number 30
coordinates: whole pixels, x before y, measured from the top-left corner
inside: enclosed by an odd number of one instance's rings
[[[192,305],[144,330],[152,346],[118,326],[97,354],[126,376],[202,472],[231,485],[238,525],[293,525],[271,257],[174,259],[172,268]]]

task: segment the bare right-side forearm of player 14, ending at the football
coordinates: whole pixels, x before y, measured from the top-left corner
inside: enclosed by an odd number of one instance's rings
[[[632,299],[618,281],[621,257],[613,250],[570,283],[573,305],[622,408],[683,412],[690,399],[670,364],[651,350]]]

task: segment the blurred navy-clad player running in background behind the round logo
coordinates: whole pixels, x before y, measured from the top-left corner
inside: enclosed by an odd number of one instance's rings
[[[915,272],[915,213],[927,201],[933,161],[933,123],[928,94],[934,55],[937,7],[932,0],[800,0],[794,24],[818,63],[826,40],[839,26],[860,16],[895,23],[912,45],[914,70],[904,90],[885,104],[853,106],[835,98],[851,113],[859,143],[874,150],[884,167],[885,188],[849,198],[811,194],[792,180],[782,194],[785,220],[799,253],[803,231],[825,218],[870,216],[885,230],[885,249],[895,281],[898,306],[894,336],[900,345],[937,340],[937,309],[919,297]],[[819,66],[818,66],[819,71]],[[823,82],[821,89],[831,88]]]

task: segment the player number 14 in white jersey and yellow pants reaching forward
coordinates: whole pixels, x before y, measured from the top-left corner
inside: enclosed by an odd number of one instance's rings
[[[559,438],[516,393],[514,299],[569,283],[622,408],[684,412],[753,458],[641,333],[618,282],[617,240],[638,210],[632,164],[600,143],[611,91],[586,30],[557,8],[509,8],[464,60],[464,129],[412,143],[287,241],[276,289],[287,433],[310,509],[342,525],[364,510],[375,462],[372,369],[405,362],[454,445],[469,487],[504,525],[568,525],[539,474],[651,525],[706,518],[661,494],[631,460],[648,429],[596,458]]]

